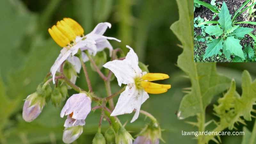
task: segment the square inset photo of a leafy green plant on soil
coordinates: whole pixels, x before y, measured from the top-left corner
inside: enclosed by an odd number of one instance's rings
[[[256,0],[194,0],[195,62],[256,61]]]

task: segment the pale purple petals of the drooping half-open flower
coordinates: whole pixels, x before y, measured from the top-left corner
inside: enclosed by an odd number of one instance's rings
[[[73,113],[73,119],[84,120],[91,111],[91,103],[85,93],[73,94],[62,108],[60,117]]]

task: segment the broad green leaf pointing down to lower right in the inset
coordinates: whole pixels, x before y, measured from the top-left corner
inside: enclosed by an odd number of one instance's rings
[[[226,39],[226,41],[224,41],[224,45],[226,46],[226,50],[229,50],[231,53],[234,53],[235,55],[245,60],[244,52],[239,42],[239,39],[235,39],[234,36],[230,36]]]

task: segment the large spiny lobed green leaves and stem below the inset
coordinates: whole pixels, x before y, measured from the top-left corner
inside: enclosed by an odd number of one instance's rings
[[[198,0],[195,0],[198,1]],[[217,71],[216,63],[195,62],[193,60],[193,10],[191,0],[177,0],[179,7],[179,21],[172,24],[171,29],[179,38],[183,52],[178,57],[177,65],[188,76],[191,87],[185,88],[185,96],[180,102],[177,113],[178,119],[196,117],[195,121],[187,123],[198,128],[198,132],[222,133],[225,129],[235,129],[237,124],[246,124],[251,121],[256,101],[256,79],[252,80],[248,71],[242,73],[242,93],[236,91],[236,82]],[[221,95],[221,96],[220,96]],[[206,108],[211,105],[214,96],[220,96],[212,113],[218,118],[207,113]],[[211,107],[207,108],[209,111]],[[253,113],[252,113],[253,112]],[[209,126],[211,125],[211,127]],[[180,132],[182,130],[179,130]],[[245,133],[242,144],[255,143],[256,123],[250,132]],[[195,137],[197,144],[208,144],[209,141],[221,143],[219,135],[198,135]]]

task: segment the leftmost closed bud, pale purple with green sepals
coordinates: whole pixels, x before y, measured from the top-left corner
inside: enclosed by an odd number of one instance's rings
[[[24,103],[22,117],[26,122],[31,122],[36,119],[42,112],[45,105],[45,98],[38,95],[37,92],[29,95]]]

